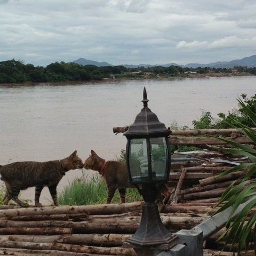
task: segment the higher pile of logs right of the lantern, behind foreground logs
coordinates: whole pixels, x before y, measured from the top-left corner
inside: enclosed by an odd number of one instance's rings
[[[129,127],[114,127],[115,133],[125,132]],[[195,207],[216,205],[226,188],[232,183],[239,183],[247,170],[230,173],[223,178],[216,178],[218,174],[230,170],[236,164],[249,162],[242,156],[225,154],[221,147],[231,147],[218,138],[209,135],[221,135],[227,140],[236,141],[255,148],[251,139],[236,129],[207,129],[207,130],[173,130],[169,136],[172,145],[194,146],[198,150],[188,153],[174,153],[170,180],[167,187],[172,191],[170,205],[188,204]],[[190,207],[190,206],[189,206]],[[165,210],[170,209],[169,204]],[[164,211],[165,211],[164,210]],[[185,210],[185,209],[182,209]],[[223,233],[223,230],[221,230]],[[212,241],[212,239],[211,239]],[[219,245],[220,248],[222,245]],[[229,248],[230,249],[230,248]],[[219,252],[218,252],[219,253]],[[218,254],[217,253],[217,254]],[[216,254],[216,255],[217,255]],[[215,254],[212,254],[215,255]],[[233,254],[220,254],[233,255]],[[249,254],[250,255],[250,254]]]

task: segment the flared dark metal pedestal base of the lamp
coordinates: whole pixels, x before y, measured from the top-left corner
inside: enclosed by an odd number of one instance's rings
[[[178,244],[179,238],[165,228],[160,218],[156,203],[145,202],[142,205],[141,221],[138,230],[126,239],[125,247],[154,247],[169,250]]]

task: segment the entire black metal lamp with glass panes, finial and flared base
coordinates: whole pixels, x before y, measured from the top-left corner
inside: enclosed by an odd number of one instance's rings
[[[163,225],[155,201],[161,186],[169,180],[170,129],[166,129],[148,108],[145,87],[142,102],[141,112],[124,135],[127,138],[126,165],[129,180],[137,187],[145,203],[142,205],[140,226],[136,233],[125,241],[125,245],[157,246],[157,249],[167,250],[178,244],[179,239]]]

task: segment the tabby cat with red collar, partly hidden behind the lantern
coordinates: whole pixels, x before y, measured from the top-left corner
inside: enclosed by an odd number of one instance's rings
[[[93,150],[91,150],[91,156],[89,156],[84,162],[84,168],[93,171],[98,171],[105,180],[108,188],[107,204],[111,203],[111,200],[118,189],[120,194],[120,202],[125,202],[125,188],[135,188],[128,180],[128,174],[126,171],[126,163],[118,161],[106,161],[99,157]],[[163,209],[164,204],[170,198],[171,193],[165,185],[161,187],[161,196],[163,200],[157,199],[159,211]],[[160,196],[159,196],[160,197]]]

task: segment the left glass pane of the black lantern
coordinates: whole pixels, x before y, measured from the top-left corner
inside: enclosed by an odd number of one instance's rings
[[[148,180],[148,154],[146,139],[131,139],[129,166],[132,181]]]

